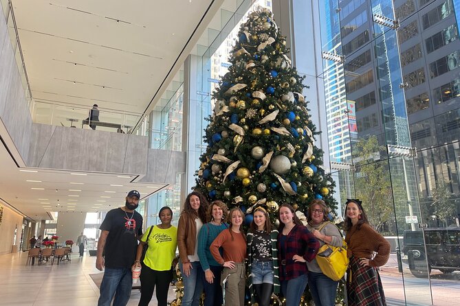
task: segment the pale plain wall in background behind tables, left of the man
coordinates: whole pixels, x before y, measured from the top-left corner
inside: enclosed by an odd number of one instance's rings
[[[59,236],[58,243],[64,244],[66,240],[76,239],[85,228],[86,213],[79,211],[65,211],[59,213],[56,235]]]

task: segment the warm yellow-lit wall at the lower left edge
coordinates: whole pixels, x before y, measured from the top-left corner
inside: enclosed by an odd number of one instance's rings
[[[23,217],[6,207],[3,203],[0,202],[0,205],[3,206],[3,218],[0,224],[0,255],[8,254],[11,252],[11,246],[14,242],[14,231],[16,233],[16,244],[17,250],[19,250],[19,243],[21,242],[21,231],[23,225]]]

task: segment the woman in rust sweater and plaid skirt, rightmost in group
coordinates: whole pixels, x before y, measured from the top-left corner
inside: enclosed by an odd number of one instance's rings
[[[388,261],[390,243],[369,225],[360,200],[347,199],[346,205],[345,241],[350,258],[347,270],[348,305],[386,305],[377,267]]]

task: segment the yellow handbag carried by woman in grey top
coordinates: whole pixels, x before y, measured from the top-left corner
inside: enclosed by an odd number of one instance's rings
[[[327,223],[333,224],[332,222],[326,222],[318,231],[321,231]],[[334,224],[334,226],[335,225],[336,224]],[[325,244],[320,247],[316,255],[316,262],[318,262],[318,266],[320,266],[322,273],[333,281],[342,279],[350,262],[347,257],[347,242],[345,242],[343,237],[342,240],[342,246],[330,246],[329,244]]]

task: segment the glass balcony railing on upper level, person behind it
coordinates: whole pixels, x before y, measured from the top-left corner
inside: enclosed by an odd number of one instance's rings
[[[99,121],[91,121],[89,120],[90,109],[83,106],[52,104],[36,100],[32,105],[32,121],[52,126],[92,128],[94,130],[130,134],[136,123],[142,119],[142,114],[140,113],[98,108]]]

